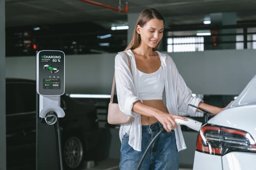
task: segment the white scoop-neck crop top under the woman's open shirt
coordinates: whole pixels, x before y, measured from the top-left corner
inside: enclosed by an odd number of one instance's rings
[[[153,73],[144,73],[138,70],[137,85],[141,100],[162,100],[164,89],[162,67]]]

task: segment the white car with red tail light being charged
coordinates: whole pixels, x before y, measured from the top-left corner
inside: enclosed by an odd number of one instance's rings
[[[201,126],[193,170],[256,170],[256,75],[237,99]]]

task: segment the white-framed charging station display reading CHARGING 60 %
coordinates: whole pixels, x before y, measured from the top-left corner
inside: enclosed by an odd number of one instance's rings
[[[37,54],[37,91],[40,95],[64,93],[64,52],[39,51]]]

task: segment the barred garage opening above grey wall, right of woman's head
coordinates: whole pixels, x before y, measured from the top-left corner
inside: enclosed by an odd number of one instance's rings
[[[162,51],[256,49],[256,24],[175,26],[164,32]]]

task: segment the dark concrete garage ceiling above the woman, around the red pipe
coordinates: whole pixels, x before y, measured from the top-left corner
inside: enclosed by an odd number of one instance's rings
[[[6,27],[95,22],[106,28],[127,23],[127,14],[156,8],[168,25],[200,24],[211,13],[236,12],[237,22],[256,21],[256,0],[94,0],[122,13],[81,0],[5,0]],[[119,5],[120,3],[120,5]],[[89,27],[89,25],[88,25]]]

